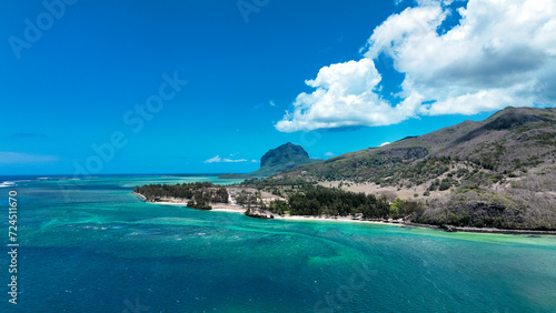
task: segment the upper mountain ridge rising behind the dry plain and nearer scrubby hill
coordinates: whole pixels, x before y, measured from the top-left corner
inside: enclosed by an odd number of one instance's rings
[[[554,161],[555,125],[556,109],[507,108],[485,121],[466,121],[281,174],[300,175],[304,172],[302,176],[327,181],[420,184],[449,170],[441,164],[467,162],[508,175]]]

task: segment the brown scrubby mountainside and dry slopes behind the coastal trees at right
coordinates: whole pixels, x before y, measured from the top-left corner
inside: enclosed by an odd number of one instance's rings
[[[427,223],[555,229],[556,108],[506,108],[269,178],[284,179],[417,200]]]

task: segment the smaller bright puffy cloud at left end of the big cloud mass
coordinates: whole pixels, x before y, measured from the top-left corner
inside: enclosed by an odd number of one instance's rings
[[[376,88],[381,77],[369,59],[331,64],[305,83],[316,90],[301,93],[276,129],[284,132],[350,125],[387,125],[414,114],[418,99],[408,97],[399,104],[380,99]]]

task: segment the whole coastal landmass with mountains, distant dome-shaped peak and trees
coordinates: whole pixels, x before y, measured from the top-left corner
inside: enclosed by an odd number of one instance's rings
[[[224,188],[228,202],[266,218],[535,233],[556,230],[555,160],[556,109],[507,108],[485,121],[326,161],[310,160],[301,147],[287,143],[267,152],[254,173],[284,171],[203,188]],[[190,193],[195,205],[214,201],[198,200],[206,192]]]

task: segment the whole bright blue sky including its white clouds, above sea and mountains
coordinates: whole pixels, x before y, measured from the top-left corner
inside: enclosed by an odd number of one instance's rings
[[[554,1],[478,2],[9,1],[0,174],[249,172],[554,105]]]

